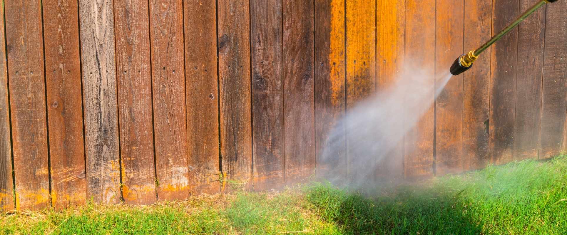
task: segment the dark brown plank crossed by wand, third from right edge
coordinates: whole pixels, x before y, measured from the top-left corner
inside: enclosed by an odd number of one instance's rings
[[[494,0],[492,31],[499,32],[519,14],[518,1]],[[513,159],[518,28],[492,46],[490,72],[490,161],[504,164]]]

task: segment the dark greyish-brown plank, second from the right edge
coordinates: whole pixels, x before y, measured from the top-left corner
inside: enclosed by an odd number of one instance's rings
[[[539,1],[521,0],[520,12],[528,10],[536,2]],[[513,144],[515,160],[538,158],[546,7],[547,5],[544,5],[518,25],[517,95]]]

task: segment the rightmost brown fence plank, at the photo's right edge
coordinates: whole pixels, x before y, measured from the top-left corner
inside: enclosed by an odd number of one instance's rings
[[[567,2],[547,8],[539,159],[548,159],[567,148]]]

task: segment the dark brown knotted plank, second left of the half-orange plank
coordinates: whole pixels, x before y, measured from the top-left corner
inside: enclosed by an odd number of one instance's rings
[[[285,181],[282,2],[252,0],[250,7],[253,187],[265,190]]]

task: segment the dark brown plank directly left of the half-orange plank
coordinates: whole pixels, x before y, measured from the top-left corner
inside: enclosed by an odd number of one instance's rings
[[[315,173],[314,2],[287,0],[284,8],[285,180]]]

